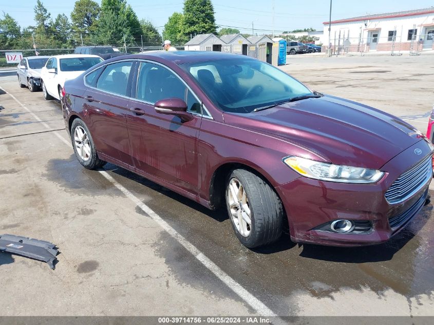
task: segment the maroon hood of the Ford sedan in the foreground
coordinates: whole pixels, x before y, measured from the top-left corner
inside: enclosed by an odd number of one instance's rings
[[[223,118],[301,145],[331,163],[375,169],[424,138],[397,117],[329,95],[249,114],[224,112]]]

